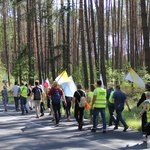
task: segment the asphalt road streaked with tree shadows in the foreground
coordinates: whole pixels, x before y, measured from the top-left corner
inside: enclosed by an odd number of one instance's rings
[[[87,120],[83,130],[78,131],[76,121],[72,118],[66,122],[64,117],[55,127],[48,112],[36,119],[34,110],[22,116],[21,112],[14,111],[13,104],[8,107],[8,112],[4,112],[0,101],[0,150],[150,149],[138,131],[128,129],[123,132],[121,127],[114,131],[112,126],[103,134],[100,124],[97,132],[92,133],[92,124]]]

